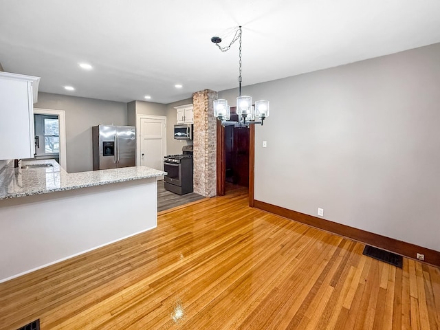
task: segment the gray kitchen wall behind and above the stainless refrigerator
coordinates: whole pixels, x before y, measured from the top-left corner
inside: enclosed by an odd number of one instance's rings
[[[126,103],[59,94],[39,93],[35,108],[66,113],[67,172],[93,169],[91,126],[127,124]]]

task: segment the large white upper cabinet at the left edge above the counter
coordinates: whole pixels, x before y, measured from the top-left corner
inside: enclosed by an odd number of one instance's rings
[[[0,159],[34,157],[34,102],[40,78],[0,72]]]

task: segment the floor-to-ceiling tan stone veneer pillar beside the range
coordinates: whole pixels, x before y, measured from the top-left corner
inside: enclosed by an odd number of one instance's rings
[[[192,94],[194,107],[194,192],[205,197],[217,195],[217,122],[212,102],[217,91],[205,89]]]

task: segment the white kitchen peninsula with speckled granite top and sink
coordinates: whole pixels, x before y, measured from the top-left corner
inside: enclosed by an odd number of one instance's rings
[[[0,170],[0,282],[157,226],[161,170],[26,165]]]

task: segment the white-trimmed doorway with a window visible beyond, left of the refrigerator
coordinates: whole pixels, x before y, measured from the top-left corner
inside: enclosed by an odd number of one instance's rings
[[[58,163],[67,171],[65,111],[34,108],[34,116],[36,116],[34,121],[35,136],[38,136],[36,157],[45,157],[44,154],[52,157],[58,153]],[[58,124],[58,131],[55,129],[55,124]]]

